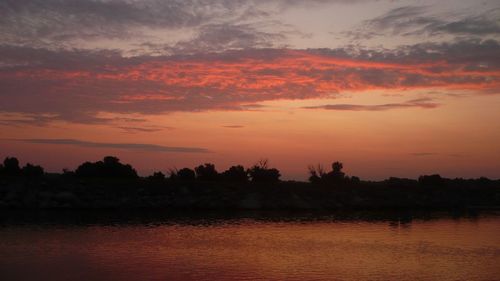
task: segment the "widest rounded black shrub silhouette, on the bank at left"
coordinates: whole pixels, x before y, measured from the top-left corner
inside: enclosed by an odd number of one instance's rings
[[[85,162],[80,165],[75,175],[78,177],[103,177],[103,178],[137,178],[137,172],[129,164],[120,163],[114,156],[106,156],[103,161]]]

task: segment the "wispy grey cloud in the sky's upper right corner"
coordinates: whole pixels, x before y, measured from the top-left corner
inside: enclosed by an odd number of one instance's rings
[[[353,39],[370,39],[376,36],[454,35],[499,36],[500,7],[482,14],[461,18],[432,15],[430,7],[404,6],[365,21],[358,29],[345,32]]]

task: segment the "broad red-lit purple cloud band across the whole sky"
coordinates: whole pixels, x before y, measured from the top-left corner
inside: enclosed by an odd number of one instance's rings
[[[382,51],[245,49],[123,57],[109,50],[0,45],[0,119],[9,122],[2,116],[18,114],[28,123],[102,124],[114,119],[99,113],[258,110],[265,101],[343,91],[498,92],[498,49],[495,40],[465,40]]]

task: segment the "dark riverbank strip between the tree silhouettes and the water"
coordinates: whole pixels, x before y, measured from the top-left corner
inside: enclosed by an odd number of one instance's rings
[[[496,209],[498,181],[461,180],[315,185],[46,176],[0,180],[0,208],[9,209]]]

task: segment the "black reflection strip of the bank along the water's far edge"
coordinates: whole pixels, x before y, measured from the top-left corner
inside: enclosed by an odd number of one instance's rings
[[[217,210],[8,210],[0,213],[0,227],[12,225],[218,225],[256,222],[387,222],[390,226],[408,226],[414,220],[477,220],[498,216],[499,211],[217,211]]]

